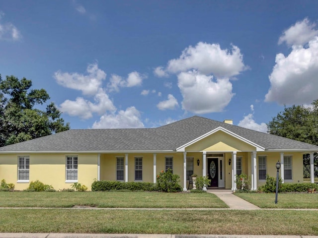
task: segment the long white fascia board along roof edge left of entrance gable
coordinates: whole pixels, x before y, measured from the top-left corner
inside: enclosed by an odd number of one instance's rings
[[[67,153],[80,153],[80,154],[95,154],[95,153],[103,153],[103,154],[111,154],[111,153],[171,153],[176,152],[174,150],[132,150],[132,151],[0,151],[0,154],[67,154]]]

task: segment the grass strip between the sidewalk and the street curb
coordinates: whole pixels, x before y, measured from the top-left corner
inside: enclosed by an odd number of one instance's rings
[[[318,235],[317,211],[294,210],[1,209],[0,224],[2,233]]]

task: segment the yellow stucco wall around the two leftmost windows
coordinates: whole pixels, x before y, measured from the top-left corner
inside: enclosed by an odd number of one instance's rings
[[[29,156],[29,181],[40,180],[55,189],[71,188],[73,183],[66,182],[66,156],[78,156],[78,182],[89,189],[93,179],[97,179],[97,154],[1,154],[0,179],[14,183],[16,190],[23,190],[29,182],[17,182],[18,156]]]

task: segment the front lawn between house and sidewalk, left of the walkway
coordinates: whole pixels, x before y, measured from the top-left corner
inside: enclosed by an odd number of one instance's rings
[[[0,192],[0,207],[227,208],[211,193]]]

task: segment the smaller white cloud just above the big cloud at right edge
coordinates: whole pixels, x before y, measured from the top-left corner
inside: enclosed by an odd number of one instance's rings
[[[318,35],[318,30],[316,30],[315,27],[316,24],[311,23],[308,18],[298,21],[295,25],[283,32],[278,40],[278,44],[286,42],[288,46],[304,45]]]

